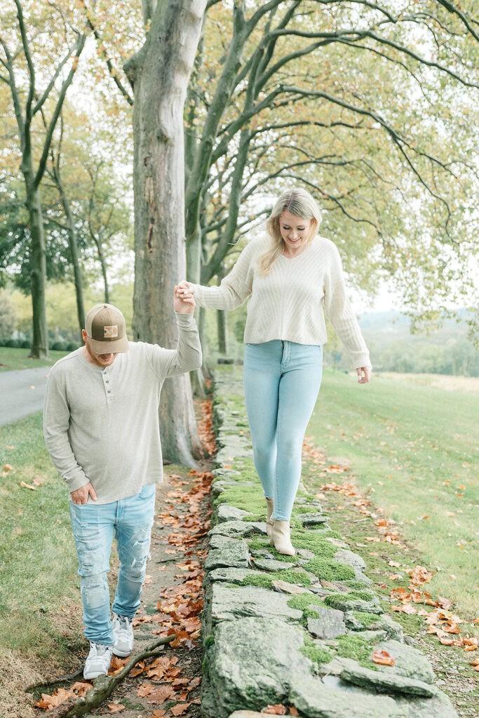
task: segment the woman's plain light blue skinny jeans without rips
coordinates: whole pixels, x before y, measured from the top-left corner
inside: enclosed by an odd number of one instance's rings
[[[321,346],[281,340],[246,345],[243,380],[254,465],[264,495],[274,498],[277,521],[291,518],[321,376]]]

